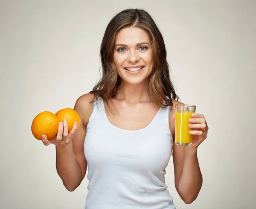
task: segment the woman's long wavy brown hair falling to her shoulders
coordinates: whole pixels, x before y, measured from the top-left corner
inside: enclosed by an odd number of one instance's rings
[[[154,67],[150,75],[151,99],[160,107],[172,106],[172,99],[178,100],[170,80],[169,64],[166,61],[166,47],[163,36],[152,17],[143,9],[125,9],[115,15],[105,30],[100,48],[102,78],[90,93],[95,100],[102,98],[109,107],[111,98],[116,96],[121,78],[117,74],[113,59],[116,34],[123,28],[138,27],[145,30],[151,39]]]

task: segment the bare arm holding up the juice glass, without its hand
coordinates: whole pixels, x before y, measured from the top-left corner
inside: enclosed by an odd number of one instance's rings
[[[175,104],[182,104],[174,101]],[[175,121],[172,115],[175,114],[174,108],[171,110],[169,124],[172,136],[175,136]],[[181,199],[186,203],[192,203],[198,196],[203,178],[199,168],[197,148],[181,145],[173,145],[173,164],[175,172],[175,187]]]

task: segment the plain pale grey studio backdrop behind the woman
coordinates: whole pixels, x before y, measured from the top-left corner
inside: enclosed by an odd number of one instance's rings
[[[62,185],[55,146],[33,138],[40,112],[74,106],[99,78],[99,46],[113,15],[146,9],[163,33],[181,102],[209,125],[198,148],[203,187],[177,209],[253,209],[256,194],[256,2],[251,0],[0,0],[0,209],[82,209],[87,178]]]

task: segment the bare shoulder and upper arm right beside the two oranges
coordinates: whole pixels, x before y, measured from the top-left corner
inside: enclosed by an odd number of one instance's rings
[[[79,98],[76,100],[74,110],[79,113],[84,127],[87,126],[89,118],[93,112],[93,102],[91,102],[93,99],[94,95],[87,93],[79,96]]]

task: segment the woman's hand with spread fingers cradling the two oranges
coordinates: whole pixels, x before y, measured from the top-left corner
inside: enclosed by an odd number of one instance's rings
[[[76,129],[77,122],[74,123],[72,130],[68,133],[67,120],[64,119],[63,122],[59,123],[57,135],[51,140],[48,140],[46,135],[42,135],[42,142],[46,146],[49,144],[66,146],[71,142],[73,135],[76,133]]]

